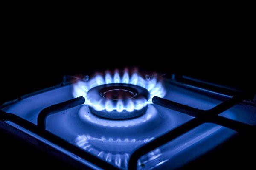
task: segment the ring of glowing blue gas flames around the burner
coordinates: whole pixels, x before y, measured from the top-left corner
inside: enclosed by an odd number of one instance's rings
[[[128,104],[124,105],[122,100],[119,100],[117,104],[113,105],[113,103],[109,100],[107,102],[102,101],[93,101],[92,99],[87,98],[87,92],[98,85],[110,84],[110,83],[126,83],[139,85],[143,88],[146,88],[150,92],[150,99],[147,101],[146,99],[140,100],[131,100],[128,99]],[[166,94],[166,91],[161,82],[157,82],[157,78],[153,77],[149,80],[143,79],[137,72],[134,72],[131,76],[128,71],[125,71],[121,76],[119,71],[115,71],[114,75],[106,72],[105,76],[97,74],[95,77],[88,81],[79,80],[73,85],[73,96],[79,97],[83,96],[85,98],[85,105],[90,105],[97,111],[113,111],[116,110],[118,112],[129,111],[132,112],[134,110],[140,110],[145,107],[147,104],[152,103],[152,98],[154,96],[163,97]]]

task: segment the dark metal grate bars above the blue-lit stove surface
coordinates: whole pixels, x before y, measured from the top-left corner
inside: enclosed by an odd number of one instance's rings
[[[69,84],[68,82],[63,82],[61,85],[57,85],[54,88],[61,87],[63,85]],[[50,88],[52,89],[52,88]],[[49,89],[47,89],[49,90]],[[44,91],[47,91],[44,90]],[[37,93],[29,94],[26,96],[21,97],[21,99],[26,98],[28,96],[32,96],[35,94],[39,94],[42,91],[38,91]],[[177,138],[178,136],[188,132],[189,130],[192,130],[193,128],[206,123],[211,122],[215,123],[217,125],[221,125],[224,127],[228,127],[230,129],[236,130],[241,133],[251,133],[252,131],[256,131],[256,127],[253,125],[247,125],[245,123],[241,123],[235,120],[227,119],[222,116],[218,116],[220,113],[226,111],[227,109],[237,105],[239,102],[242,102],[244,100],[252,100],[254,99],[255,94],[253,92],[243,92],[236,94],[236,96],[233,96],[230,99],[227,99],[226,101],[222,102],[221,104],[215,106],[212,109],[209,110],[201,110],[197,108],[192,108],[187,105],[182,105],[177,102],[172,102],[167,99],[163,99],[160,97],[154,97],[152,99],[152,102],[156,105],[163,106],[165,108],[169,108],[175,111],[178,111],[180,113],[187,114],[189,116],[193,116],[195,118],[191,119],[190,121],[184,123],[183,125],[180,125],[176,127],[173,130],[170,130],[169,132],[163,134],[162,136],[159,136],[158,138],[152,140],[151,142],[146,143],[145,145],[138,147],[132,154],[128,162],[128,170],[136,170],[137,169],[137,161],[138,159],[145,155],[146,153],[156,149],[157,147],[162,146],[163,144],[166,144],[167,142],[172,141],[173,139]],[[2,107],[6,105],[13,104],[15,102],[18,102],[19,99],[14,100],[12,102],[8,102],[6,104],[3,104]],[[20,118],[19,116],[12,114],[12,113],[5,113],[1,110],[0,113],[0,120],[6,121],[9,120],[11,122],[14,122],[17,125],[20,125],[21,127],[26,128],[27,130],[31,131],[32,133],[36,133],[39,136],[47,139],[49,142],[52,142],[65,150],[68,150],[75,155],[81,157],[82,159],[85,159],[87,161],[90,161],[92,164],[95,164],[98,167],[101,167],[103,169],[111,169],[115,170],[118,169],[117,167],[113,166],[112,164],[103,161],[102,159],[99,159],[97,156],[94,156],[90,153],[88,153],[85,150],[82,150],[79,147],[74,146],[73,144],[70,144],[69,142],[65,141],[64,139],[61,139],[60,137],[50,133],[49,131],[45,130],[45,121],[46,117],[49,114],[54,114],[59,111],[63,111],[68,108],[75,107],[77,105],[81,105],[84,103],[83,97],[78,97],[76,99],[71,99],[66,102],[61,102],[56,105],[49,106],[47,108],[44,108],[38,115],[38,126]]]

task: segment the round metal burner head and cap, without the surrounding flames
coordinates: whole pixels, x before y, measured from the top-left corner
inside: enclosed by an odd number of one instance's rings
[[[150,93],[147,89],[138,85],[111,83],[91,88],[87,92],[87,97],[91,101],[101,101],[102,103],[111,103],[117,106],[117,109],[112,111],[108,111],[108,109],[97,111],[89,106],[92,113],[108,119],[129,119],[145,113],[148,105],[133,111],[122,109],[123,105],[131,105],[131,103],[139,103],[143,100],[148,101]]]

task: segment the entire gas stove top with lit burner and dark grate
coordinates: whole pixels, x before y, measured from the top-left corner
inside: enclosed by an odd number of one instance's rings
[[[135,69],[67,75],[59,85],[1,105],[0,129],[70,169],[188,169],[212,151],[223,153],[218,146],[227,142],[254,146],[244,137],[256,132],[255,94],[232,89]],[[232,162],[233,153],[228,156]]]

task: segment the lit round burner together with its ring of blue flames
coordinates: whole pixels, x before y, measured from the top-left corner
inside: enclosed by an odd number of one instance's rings
[[[145,78],[143,78],[145,77]],[[76,78],[73,96],[83,96],[84,105],[97,116],[107,119],[128,119],[140,116],[152,104],[154,96],[163,97],[166,90],[154,75],[141,76],[136,71],[106,71]]]

